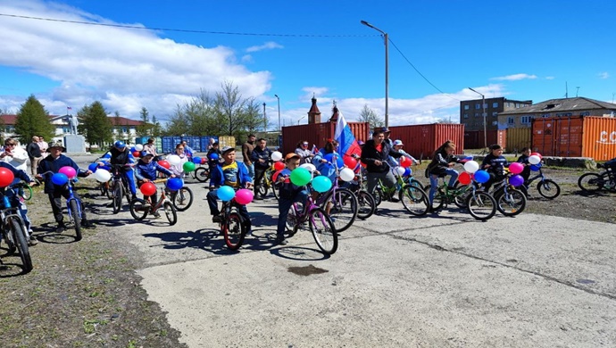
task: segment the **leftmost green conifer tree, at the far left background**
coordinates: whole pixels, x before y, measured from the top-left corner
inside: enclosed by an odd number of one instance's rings
[[[34,136],[47,139],[54,137],[55,127],[47,114],[43,104],[40,104],[34,95],[30,95],[26,103],[21,104],[15,120],[15,133],[21,144],[28,144]]]

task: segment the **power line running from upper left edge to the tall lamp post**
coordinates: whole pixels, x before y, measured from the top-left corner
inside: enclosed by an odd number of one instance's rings
[[[17,15],[17,14],[8,14],[8,13],[0,13],[0,16],[12,17],[12,18],[21,18],[21,19],[24,19],[24,20],[55,21],[55,22],[61,22],[61,23],[97,25],[97,26],[101,26],[101,27],[141,29],[141,30],[164,30],[164,31],[177,31],[177,32],[183,32],[183,33],[213,34],[213,35],[237,35],[237,36],[253,36],[253,37],[376,37],[376,36],[378,36],[376,34],[373,34],[373,35],[365,35],[365,34],[364,35],[319,35],[319,34],[237,33],[237,32],[232,32],[232,31],[211,31],[211,30],[174,29],[174,28],[150,28],[150,27],[139,27],[139,26],[136,26],[136,25],[96,23],[96,22],[93,22],[93,21],[68,21],[68,20],[58,20],[58,19],[54,19],[54,18],[21,16],[21,15]]]

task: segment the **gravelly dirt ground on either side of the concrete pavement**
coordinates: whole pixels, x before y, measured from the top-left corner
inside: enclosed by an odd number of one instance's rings
[[[417,170],[417,172],[422,172]],[[546,168],[562,194],[553,201],[531,188],[524,213],[616,222],[616,195],[585,195],[577,180],[583,170]],[[81,180],[86,202],[99,200],[93,180]],[[35,189],[29,216],[39,244],[31,248],[35,269],[21,275],[18,257],[0,249],[0,337],[6,347],[179,347],[160,307],[146,300],[135,272],[142,264],[129,245],[105,234],[104,224],[87,229],[74,243],[70,231],[54,233],[46,196]],[[97,213],[88,211],[96,222]],[[514,219],[514,218],[512,218]]]

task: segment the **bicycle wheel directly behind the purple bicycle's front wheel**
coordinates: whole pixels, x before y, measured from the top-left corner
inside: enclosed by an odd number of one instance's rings
[[[337,188],[326,196],[320,206],[326,212],[329,211],[329,218],[334,222],[334,227],[338,233],[350,228],[357,218],[358,211],[357,197],[348,188]]]

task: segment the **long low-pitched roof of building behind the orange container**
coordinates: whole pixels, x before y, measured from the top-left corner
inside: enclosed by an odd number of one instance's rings
[[[576,96],[574,98],[550,99],[545,102],[529,105],[525,108],[499,112],[498,115],[519,115],[543,112],[572,112],[586,110],[613,110],[616,111],[616,104],[600,102],[595,99]]]

